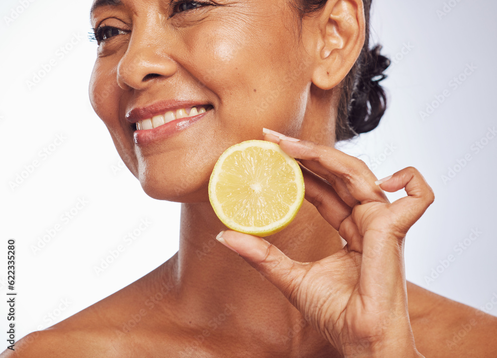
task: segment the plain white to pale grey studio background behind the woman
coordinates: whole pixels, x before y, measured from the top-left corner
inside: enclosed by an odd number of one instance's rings
[[[179,204],[142,191],[89,104],[96,53],[87,39],[90,5],[91,0],[0,5],[0,257],[14,238],[16,340],[127,286],[178,248]],[[492,314],[496,13],[491,0],[375,0],[373,42],[393,59],[383,82],[389,108],[377,130],[338,146],[365,160],[378,178],[406,166],[421,171],[436,199],[408,234],[407,277]],[[28,88],[34,72],[44,69],[46,75]],[[24,178],[11,188],[17,175]],[[145,230],[138,229],[142,220],[150,222]],[[33,252],[38,238],[53,234],[56,225],[53,238]],[[136,239],[125,241],[133,230]],[[124,252],[96,274],[94,267],[120,244]],[[6,304],[1,307],[6,314]],[[7,326],[1,317],[0,338]]]

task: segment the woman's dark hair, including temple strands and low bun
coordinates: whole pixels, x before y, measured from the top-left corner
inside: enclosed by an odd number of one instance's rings
[[[292,0],[300,17],[323,8],[327,0]],[[353,138],[375,129],[387,107],[387,96],[379,84],[390,60],[380,54],[381,45],[369,48],[369,12],[372,0],[363,0],[366,20],[364,46],[350,72],[343,79],[336,118],[336,141]]]

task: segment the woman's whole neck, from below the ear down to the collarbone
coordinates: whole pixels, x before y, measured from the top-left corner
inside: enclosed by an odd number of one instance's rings
[[[306,117],[315,120],[287,134],[332,146],[338,98],[338,91],[311,86]],[[222,342],[234,337],[254,356],[260,351],[286,358],[337,356],[277,288],[216,240],[225,229],[209,202],[181,205],[179,250],[167,262],[176,287],[174,307],[182,312],[180,324],[189,322],[211,343],[215,337]],[[300,262],[318,261],[345,244],[307,201],[290,225],[265,239]]]

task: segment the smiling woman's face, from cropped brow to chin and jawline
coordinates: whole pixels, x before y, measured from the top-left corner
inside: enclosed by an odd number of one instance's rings
[[[304,121],[312,69],[289,0],[203,1],[93,5],[101,41],[90,100],[156,199],[207,201],[210,173],[228,146],[261,139],[263,127],[298,135]],[[166,113],[170,122],[160,126]],[[155,116],[157,128],[136,129]]]

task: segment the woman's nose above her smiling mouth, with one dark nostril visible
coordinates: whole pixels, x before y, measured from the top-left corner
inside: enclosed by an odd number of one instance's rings
[[[159,27],[158,27],[159,26]],[[128,47],[117,67],[117,83],[124,90],[145,89],[159,78],[170,77],[177,71],[177,64],[170,57],[172,36],[154,31],[160,25],[133,29]]]

